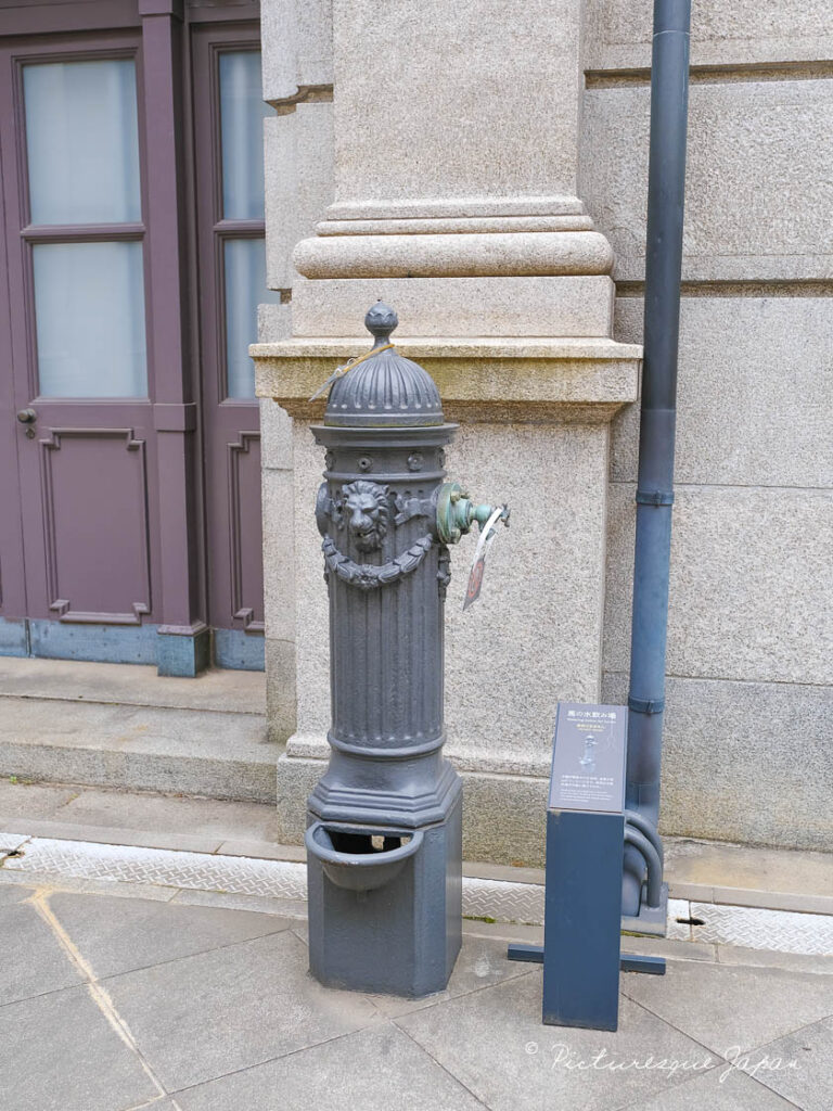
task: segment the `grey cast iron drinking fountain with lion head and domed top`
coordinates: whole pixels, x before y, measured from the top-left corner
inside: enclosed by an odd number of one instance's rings
[[[310,970],[415,998],[445,988],[461,943],[462,783],[442,754],[448,546],[479,523],[476,597],[509,509],[444,481],[456,426],[436,384],[395,350],[393,309],[380,301],[364,323],[373,348],[332,376],[312,428],[327,450],[332,751],[308,801]]]

